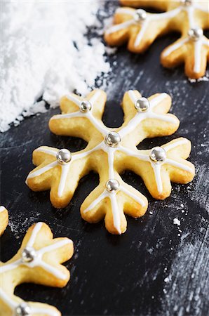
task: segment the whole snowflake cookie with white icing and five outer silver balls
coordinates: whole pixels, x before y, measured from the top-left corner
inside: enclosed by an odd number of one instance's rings
[[[170,195],[170,180],[188,183],[194,178],[194,166],[185,159],[191,143],[178,138],[162,147],[137,150],[144,138],[173,134],[179,120],[167,114],[171,99],[166,93],[142,98],[138,91],[128,91],[123,97],[124,123],[109,129],[102,122],[106,102],[104,91],[92,91],[86,99],[74,94],[61,100],[62,114],[50,119],[53,133],[76,136],[88,142],[80,152],[41,146],[33,152],[38,166],[27,176],[27,185],[34,190],[50,189],[55,207],[67,206],[79,180],[90,170],[100,175],[100,184],[81,205],[81,216],[95,223],[105,216],[109,232],[121,234],[126,230],[127,215],[144,215],[147,199],[125,183],[120,173],[130,169],[141,176],[147,189],[156,199]],[[124,212],[124,213],[123,213]]]

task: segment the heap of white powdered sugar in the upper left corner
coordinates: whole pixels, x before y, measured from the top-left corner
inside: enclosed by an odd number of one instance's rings
[[[102,1],[1,2],[0,131],[23,116],[44,112],[76,89],[86,93],[109,72],[101,40],[88,44],[88,27],[101,27]],[[23,116],[21,115],[23,112]]]

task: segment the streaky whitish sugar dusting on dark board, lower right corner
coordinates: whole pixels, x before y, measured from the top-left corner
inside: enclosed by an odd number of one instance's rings
[[[189,233],[181,237],[180,246],[169,275],[164,279],[165,294],[161,315],[201,315],[208,301],[208,229],[193,238]]]

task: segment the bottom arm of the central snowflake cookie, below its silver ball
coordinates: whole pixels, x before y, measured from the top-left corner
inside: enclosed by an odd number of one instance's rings
[[[105,227],[112,234],[126,231],[124,213],[139,218],[147,211],[147,199],[140,192],[123,182],[118,175],[119,189],[109,192],[102,182],[88,195],[81,205],[81,216],[88,223],[97,223],[104,218]]]

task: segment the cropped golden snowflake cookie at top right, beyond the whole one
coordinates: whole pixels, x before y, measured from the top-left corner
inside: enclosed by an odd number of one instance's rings
[[[209,41],[203,29],[209,27],[209,1],[198,0],[121,0],[124,6],[114,15],[114,26],[109,27],[104,39],[109,45],[119,46],[128,41],[128,49],[144,52],[156,37],[170,31],[181,33],[180,39],[161,53],[165,67],[185,63],[189,78],[198,79],[205,74],[209,60]],[[164,13],[147,13],[139,7],[153,7]]]

